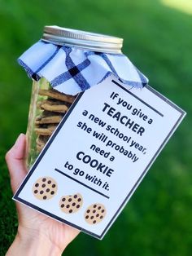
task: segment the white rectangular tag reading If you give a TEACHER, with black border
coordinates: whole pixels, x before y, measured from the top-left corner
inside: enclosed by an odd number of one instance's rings
[[[14,199],[102,239],[184,116],[108,77],[77,96]]]

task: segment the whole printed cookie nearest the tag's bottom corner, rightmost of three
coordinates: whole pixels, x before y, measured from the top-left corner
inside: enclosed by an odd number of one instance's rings
[[[106,215],[106,208],[102,204],[89,205],[87,210],[85,210],[85,221],[89,224],[100,223]]]

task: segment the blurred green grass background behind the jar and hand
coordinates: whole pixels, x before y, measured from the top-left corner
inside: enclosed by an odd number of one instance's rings
[[[4,155],[25,132],[31,81],[16,59],[44,25],[124,38],[150,85],[188,113],[103,241],[81,234],[65,255],[190,256],[192,251],[192,2],[0,0],[0,255],[17,218]]]

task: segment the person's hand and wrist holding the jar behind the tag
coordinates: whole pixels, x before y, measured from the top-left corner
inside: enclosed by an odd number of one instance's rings
[[[6,161],[11,176],[13,193],[27,174],[25,167],[25,135],[20,135],[15,145],[7,152]],[[7,252],[9,255],[60,255],[79,233],[73,227],[16,203],[19,227],[15,241]]]

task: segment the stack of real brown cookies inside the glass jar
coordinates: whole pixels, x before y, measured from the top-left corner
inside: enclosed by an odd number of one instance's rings
[[[35,120],[37,152],[41,152],[44,148],[50,135],[75,99],[75,96],[64,95],[54,89],[40,89],[39,95],[44,96],[45,99],[37,103],[37,108],[41,109],[40,116]]]

